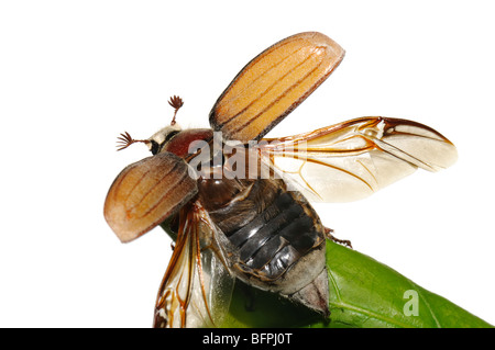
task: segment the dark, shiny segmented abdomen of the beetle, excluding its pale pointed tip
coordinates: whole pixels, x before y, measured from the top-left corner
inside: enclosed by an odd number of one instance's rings
[[[222,180],[222,185],[230,187],[229,181],[232,180]],[[199,193],[205,203],[212,203],[218,182],[200,182]],[[239,187],[239,181],[232,181],[231,185],[234,183]],[[218,201],[210,205],[210,217],[239,252],[235,263],[239,278],[264,290],[289,294],[297,287],[287,272],[300,260],[315,256],[311,251],[323,250],[324,228],[306,199],[298,192],[287,191],[283,181],[255,180],[243,185],[242,191],[222,205]],[[324,258],[320,260],[324,263]],[[305,279],[299,279],[300,286],[324,268],[320,263],[305,266],[307,271],[304,271]]]

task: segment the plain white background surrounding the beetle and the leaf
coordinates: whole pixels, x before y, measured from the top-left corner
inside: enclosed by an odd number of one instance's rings
[[[208,112],[268,45],[320,31],[346,49],[268,136],[364,115],[411,118],[459,161],[360,202],[317,205],[336,236],[495,324],[495,24],[490,1],[2,1],[0,326],[150,327],[170,255],[122,245],[102,205],[148,137]]]

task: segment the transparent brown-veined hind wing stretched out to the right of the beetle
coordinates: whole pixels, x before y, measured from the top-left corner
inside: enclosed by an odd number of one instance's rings
[[[359,200],[417,168],[437,171],[457,159],[454,145],[431,127],[381,116],[264,142],[264,163],[315,202]]]

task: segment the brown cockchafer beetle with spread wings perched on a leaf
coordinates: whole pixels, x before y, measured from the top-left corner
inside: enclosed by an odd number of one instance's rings
[[[310,202],[365,197],[417,168],[457,159],[453,144],[407,120],[369,116],[264,138],[336,69],[344,50],[306,32],[262,52],[215,103],[211,128],[175,122],[144,143],[153,156],[122,170],[105,217],[123,242],[165,219],[177,237],[155,327],[221,325],[237,279],[329,315],[324,246],[331,230]],[[183,105],[170,99],[175,113]]]

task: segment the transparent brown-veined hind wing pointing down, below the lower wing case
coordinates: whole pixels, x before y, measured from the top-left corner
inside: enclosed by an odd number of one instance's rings
[[[174,252],[158,291],[154,327],[218,327],[230,306],[234,278],[230,242],[199,202],[179,212]]]

